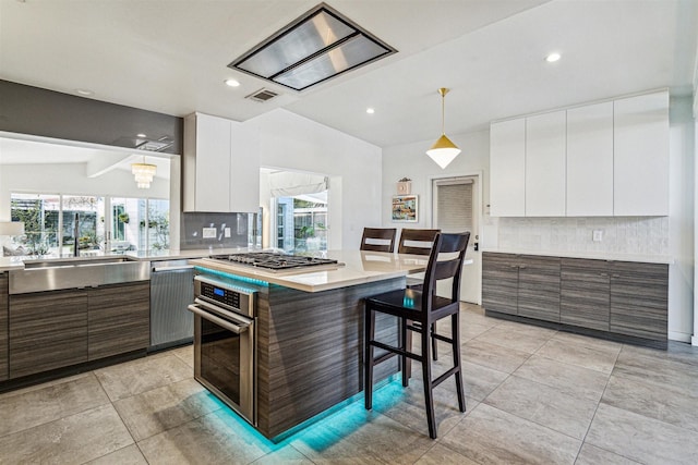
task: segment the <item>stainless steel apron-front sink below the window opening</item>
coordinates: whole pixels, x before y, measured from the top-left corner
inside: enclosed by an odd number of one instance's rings
[[[151,262],[129,257],[27,260],[24,267],[23,270],[10,270],[10,294],[97,287],[151,279]]]

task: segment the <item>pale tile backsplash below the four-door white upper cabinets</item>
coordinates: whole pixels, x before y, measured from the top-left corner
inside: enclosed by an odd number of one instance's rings
[[[669,255],[669,217],[500,218],[496,231],[503,249]]]

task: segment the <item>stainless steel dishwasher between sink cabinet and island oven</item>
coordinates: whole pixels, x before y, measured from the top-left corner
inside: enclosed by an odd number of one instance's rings
[[[194,338],[194,267],[188,260],[151,262],[149,351],[182,345]]]

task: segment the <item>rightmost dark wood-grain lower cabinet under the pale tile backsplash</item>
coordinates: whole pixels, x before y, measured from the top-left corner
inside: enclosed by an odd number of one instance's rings
[[[610,330],[665,341],[667,336],[669,265],[613,261]]]

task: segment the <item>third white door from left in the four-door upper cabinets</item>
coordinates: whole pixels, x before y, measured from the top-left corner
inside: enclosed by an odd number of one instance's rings
[[[567,216],[613,216],[613,102],[567,110]]]

